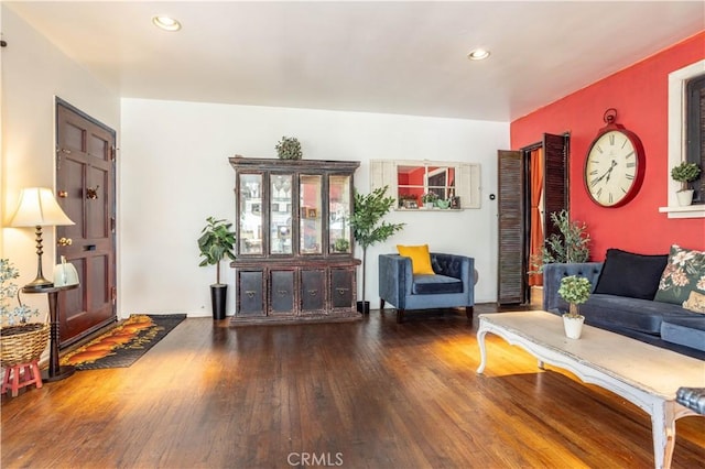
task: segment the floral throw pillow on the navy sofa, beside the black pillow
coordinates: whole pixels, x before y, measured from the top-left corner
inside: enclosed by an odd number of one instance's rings
[[[705,294],[705,252],[673,244],[653,299],[682,305],[691,292]]]

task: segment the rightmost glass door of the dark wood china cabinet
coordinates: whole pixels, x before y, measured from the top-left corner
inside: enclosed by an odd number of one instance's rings
[[[350,176],[332,175],[328,185],[328,252],[350,252]]]

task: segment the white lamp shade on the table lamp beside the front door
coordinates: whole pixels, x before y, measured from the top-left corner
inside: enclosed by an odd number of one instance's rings
[[[53,227],[75,225],[64,214],[46,187],[26,187],[20,193],[20,203],[10,218],[11,227]]]

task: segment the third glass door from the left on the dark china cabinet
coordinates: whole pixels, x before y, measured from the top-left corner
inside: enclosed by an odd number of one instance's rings
[[[302,174],[299,179],[300,250],[302,254],[322,254],[322,187],[323,176]]]

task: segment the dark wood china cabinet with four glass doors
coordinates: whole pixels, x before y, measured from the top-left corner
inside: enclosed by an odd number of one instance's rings
[[[234,156],[232,324],[349,320],[356,309],[352,176],[359,162]]]

